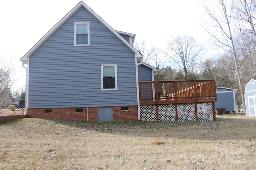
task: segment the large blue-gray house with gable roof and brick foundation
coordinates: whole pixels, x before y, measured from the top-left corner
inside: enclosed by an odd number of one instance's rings
[[[74,121],[140,119],[138,81],[154,80],[135,35],[115,31],[79,2],[21,59],[26,112]]]

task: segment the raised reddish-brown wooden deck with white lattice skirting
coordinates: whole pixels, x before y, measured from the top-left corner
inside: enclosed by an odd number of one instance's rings
[[[139,82],[144,121],[215,121],[215,80]]]

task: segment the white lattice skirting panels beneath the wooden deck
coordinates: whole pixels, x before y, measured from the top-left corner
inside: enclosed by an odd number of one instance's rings
[[[213,121],[212,103],[198,103],[198,121]],[[196,121],[195,104],[177,104],[178,122]],[[157,121],[156,105],[140,106],[142,121]],[[176,121],[175,104],[158,105],[158,120],[166,122]]]

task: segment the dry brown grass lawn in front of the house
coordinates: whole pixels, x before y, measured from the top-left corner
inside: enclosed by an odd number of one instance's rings
[[[255,125],[256,117],[237,115],[186,123],[19,119],[0,126],[0,169],[252,170]]]

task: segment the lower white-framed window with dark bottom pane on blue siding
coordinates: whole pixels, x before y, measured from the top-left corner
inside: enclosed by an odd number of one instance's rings
[[[117,90],[116,64],[101,65],[101,89]]]

